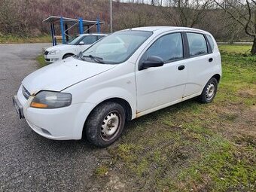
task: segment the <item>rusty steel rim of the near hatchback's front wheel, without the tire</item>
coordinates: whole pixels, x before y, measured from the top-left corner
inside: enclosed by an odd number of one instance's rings
[[[109,112],[103,119],[101,125],[100,136],[103,140],[109,141],[113,139],[120,127],[120,115],[117,111]]]

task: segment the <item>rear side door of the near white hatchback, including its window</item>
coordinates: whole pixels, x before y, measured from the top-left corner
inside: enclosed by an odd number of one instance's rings
[[[186,32],[186,37],[188,76],[184,97],[200,95],[206,82],[212,77],[212,66],[215,63],[215,56],[204,34]]]

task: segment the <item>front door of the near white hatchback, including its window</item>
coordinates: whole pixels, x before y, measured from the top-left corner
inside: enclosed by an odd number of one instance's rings
[[[136,69],[137,113],[146,114],[181,101],[187,81],[183,40],[181,32],[165,34],[143,53],[139,62],[160,56],[164,65]]]

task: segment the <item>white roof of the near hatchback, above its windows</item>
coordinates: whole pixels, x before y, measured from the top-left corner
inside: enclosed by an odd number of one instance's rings
[[[189,27],[180,27],[180,26],[144,26],[144,27],[136,27],[131,29],[125,29],[127,30],[133,30],[133,31],[146,31],[146,32],[171,32],[175,30],[184,30],[184,31],[191,31],[191,32],[205,32],[201,29],[195,29],[195,28],[189,28]]]

